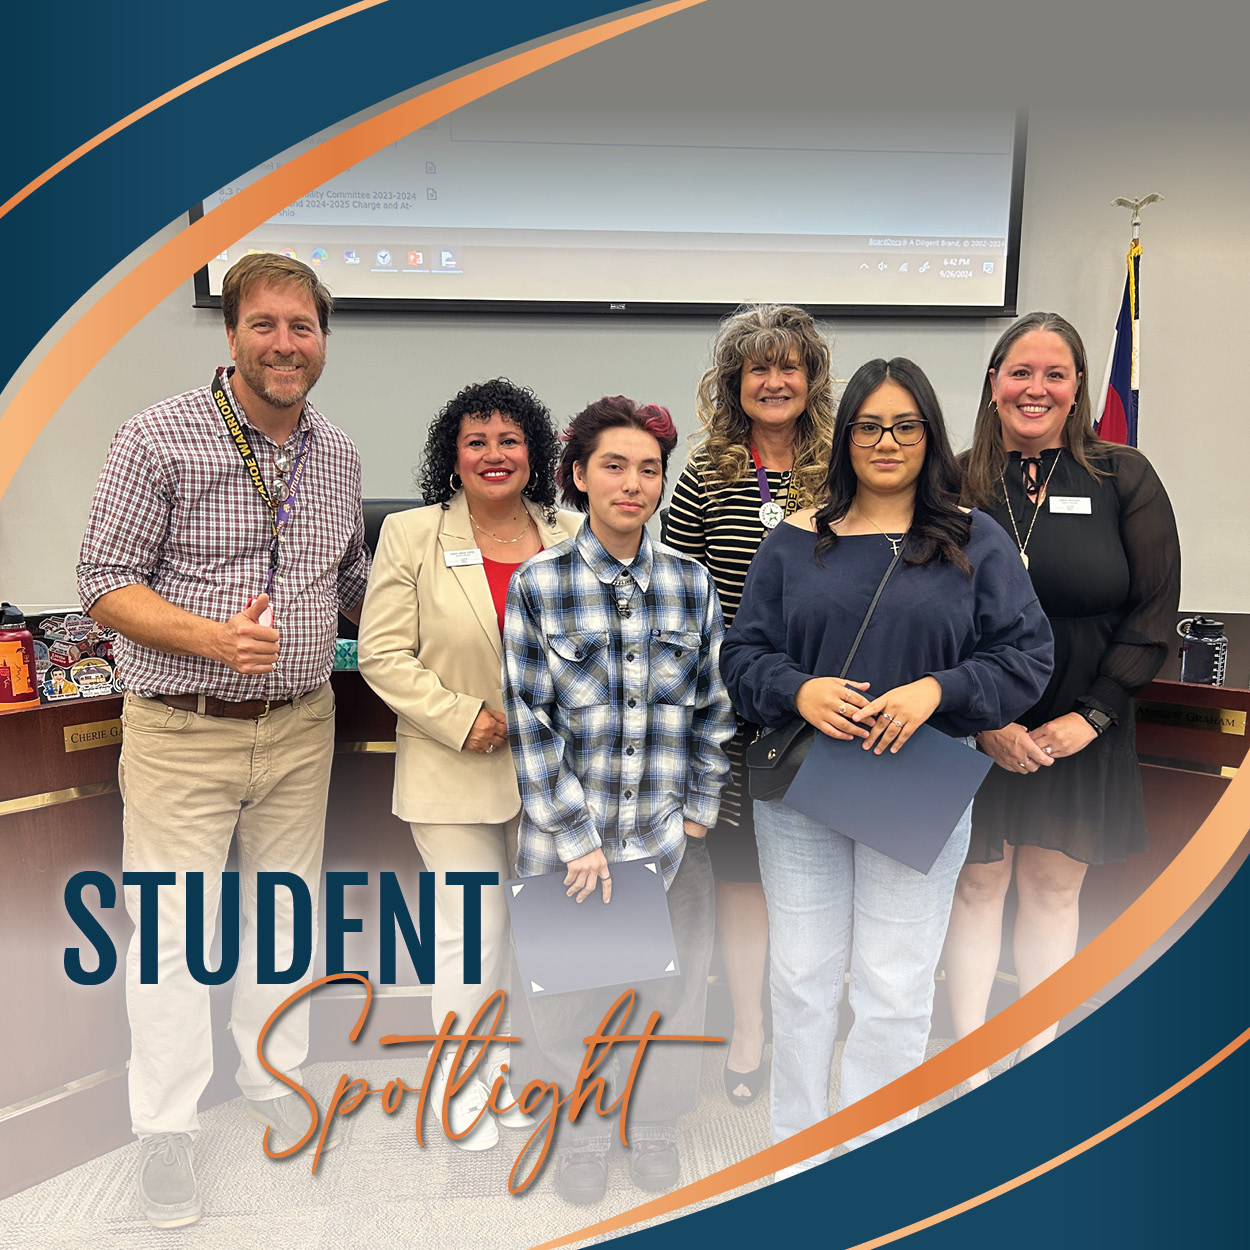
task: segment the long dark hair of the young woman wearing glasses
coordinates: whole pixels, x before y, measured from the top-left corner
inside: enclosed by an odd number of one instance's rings
[[[904,548],[904,564],[932,564],[946,560],[971,572],[964,548],[972,536],[972,522],[959,506],[960,476],[955,455],[946,435],[941,405],[932,382],[924,370],[905,356],[892,360],[870,360],[860,365],[842,391],[834,425],[834,448],[829,456],[829,475],[825,478],[828,502],[816,512],[816,558],[830,550],[838,535],[830,528],[840,521],[855,502],[859,479],[851,464],[850,426],[864,401],[884,381],[898,382],[916,401],[916,410],[925,420],[925,462],[916,479],[916,498],[911,515],[911,530]]]

